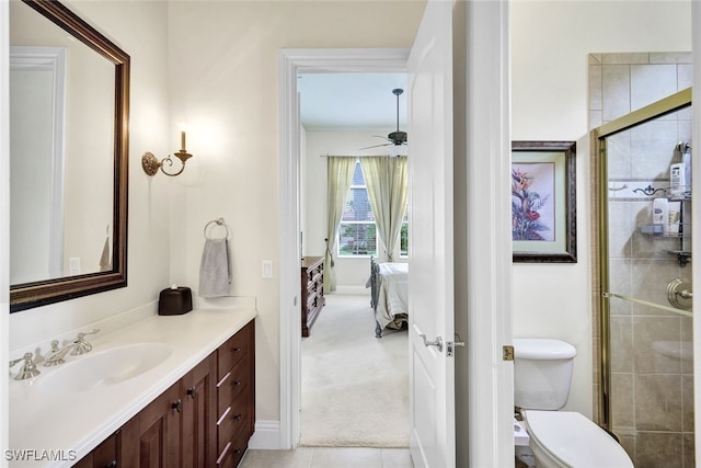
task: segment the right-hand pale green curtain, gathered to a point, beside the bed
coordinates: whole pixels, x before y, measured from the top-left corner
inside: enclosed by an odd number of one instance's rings
[[[375,213],[378,236],[384,246],[388,261],[393,262],[409,196],[406,158],[360,158],[360,165]]]

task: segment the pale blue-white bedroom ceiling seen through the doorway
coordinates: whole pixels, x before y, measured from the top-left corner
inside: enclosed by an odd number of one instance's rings
[[[397,129],[395,88],[405,73],[308,73],[297,79],[307,130]],[[399,125],[406,132],[406,92],[399,96]]]

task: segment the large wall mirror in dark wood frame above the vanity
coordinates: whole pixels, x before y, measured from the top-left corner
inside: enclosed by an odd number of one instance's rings
[[[10,311],[127,284],[129,56],[54,0],[10,2]]]

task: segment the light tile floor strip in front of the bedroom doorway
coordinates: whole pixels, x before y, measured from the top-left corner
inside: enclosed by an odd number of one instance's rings
[[[251,450],[240,468],[413,468],[407,448],[298,447]]]

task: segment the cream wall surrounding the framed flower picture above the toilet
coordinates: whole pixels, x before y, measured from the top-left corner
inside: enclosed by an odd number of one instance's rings
[[[530,1],[512,9],[513,139],[576,140],[576,264],[514,265],[515,336],[578,351],[567,409],[591,415],[587,54],[691,49],[689,1]]]

